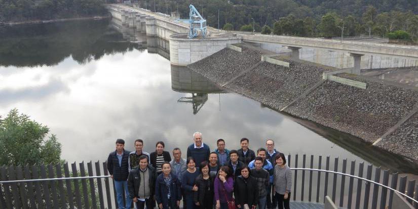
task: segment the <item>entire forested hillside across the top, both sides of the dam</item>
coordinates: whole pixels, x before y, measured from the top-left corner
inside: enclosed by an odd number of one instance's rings
[[[107,1],[107,2],[105,2]],[[0,0],[0,20],[105,14],[118,0]],[[142,8],[188,17],[193,4],[214,28],[307,37],[377,35],[418,39],[417,0],[131,0]]]

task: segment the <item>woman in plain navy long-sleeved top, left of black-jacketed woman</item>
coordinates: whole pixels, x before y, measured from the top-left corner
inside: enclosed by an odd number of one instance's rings
[[[186,163],[187,169],[181,177],[181,188],[183,189],[186,198],[186,208],[197,209],[198,207],[193,201],[193,192],[198,191],[195,179],[199,176],[199,170],[196,169],[196,163],[193,157],[187,157]]]

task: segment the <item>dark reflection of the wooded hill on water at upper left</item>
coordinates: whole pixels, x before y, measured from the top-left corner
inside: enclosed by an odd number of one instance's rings
[[[108,25],[109,20],[88,20],[0,27],[0,66],[52,66],[70,56],[85,64],[141,49],[137,43],[117,43],[123,35]]]

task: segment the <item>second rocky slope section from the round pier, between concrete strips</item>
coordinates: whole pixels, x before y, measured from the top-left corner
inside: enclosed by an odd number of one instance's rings
[[[281,109],[315,85],[328,69],[281,59],[290,68],[263,62],[225,87],[271,107]]]

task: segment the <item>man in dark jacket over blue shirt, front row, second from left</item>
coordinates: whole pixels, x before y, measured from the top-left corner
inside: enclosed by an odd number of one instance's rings
[[[157,177],[155,197],[160,209],[178,209],[181,200],[180,182],[171,174],[169,162],[161,165],[163,173]]]

